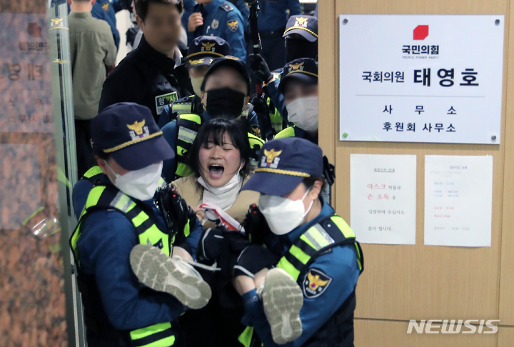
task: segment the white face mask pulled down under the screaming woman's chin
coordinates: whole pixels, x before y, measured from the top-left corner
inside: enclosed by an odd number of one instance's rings
[[[239,189],[243,183],[242,177],[239,174],[239,171],[241,171],[242,168],[243,164],[241,164],[237,174],[235,174],[225,186],[218,188],[211,186],[200,176],[198,178],[198,183],[205,188],[203,190],[202,203],[212,203],[223,210],[231,208],[233,203],[236,202],[236,198],[239,195]]]

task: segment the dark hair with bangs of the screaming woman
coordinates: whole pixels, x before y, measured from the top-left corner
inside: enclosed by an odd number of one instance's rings
[[[223,136],[225,134],[230,136],[233,146],[239,150],[241,161],[245,162],[239,174],[243,176],[243,179],[250,174],[251,149],[248,141],[248,131],[246,131],[243,121],[222,116],[211,119],[200,126],[191,150],[189,150],[189,166],[195,177],[200,177],[200,159],[198,157],[200,149],[207,146],[209,141],[212,141],[216,146],[223,146]]]

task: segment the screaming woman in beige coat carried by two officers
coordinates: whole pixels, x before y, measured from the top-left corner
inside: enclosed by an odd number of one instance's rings
[[[240,193],[251,174],[246,129],[236,119],[211,119],[201,126],[190,153],[193,176],[180,178],[173,185],[204,221],[198,261],[207,265],[216,262],[221,271],[216,271],[209,281],[213,299],[206,307],[184,314],[181,326],[186,331],[188,346],[241,346],[238,337],[246,328],[241,323],[243,301],[234,290],[231,278],[236,258],[248,241],[238,231],[216,227],[198,206],[201,203],[217,206],[242,223],[248,206],[258,203],[258,193]],[[198,326],[202,326],[202,334],[195,333]]]

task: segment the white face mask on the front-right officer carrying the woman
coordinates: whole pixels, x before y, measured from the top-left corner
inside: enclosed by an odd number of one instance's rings
[[[258,208],[274,234],[284,235],[301,224],[314,203],[311,201],[311,205],[305,211],[303,199],[306,198],[308,192],[306,191],[301,200],[295,201],[282,196],[261,195]]]

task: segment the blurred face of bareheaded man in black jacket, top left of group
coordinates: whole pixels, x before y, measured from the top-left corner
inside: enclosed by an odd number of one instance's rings
[[[173,4],[148,4],[144,21],[136,17],[146,41],[153,49],[173,53],[181,35],[181,14]]]

